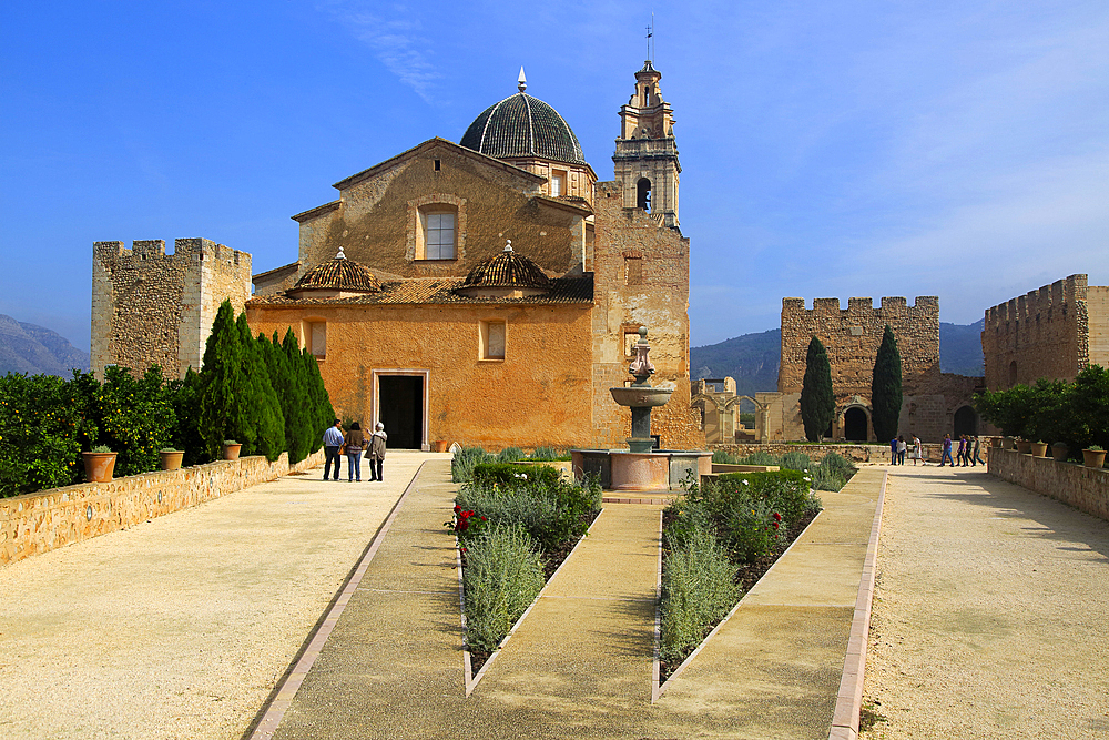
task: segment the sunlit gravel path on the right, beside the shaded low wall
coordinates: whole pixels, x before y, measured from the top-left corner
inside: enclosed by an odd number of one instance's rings
[[[980,470],[889,468],[859,737],[1109,738],[1109,523]]]

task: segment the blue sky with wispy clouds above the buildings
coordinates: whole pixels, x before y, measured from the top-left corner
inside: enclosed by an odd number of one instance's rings
[[[943,321],[1109,283],[1109,3],[655,7],[691,237],[692,344],[782,297],[938,295]],[[289,216],[515,92],[611,179],[645,57],[632,2],[9,3],[0,313],[89,345],[92,242],[296,259]]]

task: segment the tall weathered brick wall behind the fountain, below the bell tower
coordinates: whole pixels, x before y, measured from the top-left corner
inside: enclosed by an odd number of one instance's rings
[[[689,240],[650,214],[623,205],[615,182],[597,184],[592,266],[597,308],[592,321],[593,442],[625,447],[631,414],[609,388],[632,382],[631,346],[648,327],[651,384],[674,388],[651,414],[652,430],[670,449],[704,447],[700,413],[690,407]]]

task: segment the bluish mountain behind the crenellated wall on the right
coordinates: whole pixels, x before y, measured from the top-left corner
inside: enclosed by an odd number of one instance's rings
[[[981,328],[985,320],[974,324],[939,322],[939,369],[944,373],[978,376],[985,362],[981,355]],[[777,366],[782,362],[782,331],[772,328],[757,334],[743,334],[719,344],[690,347],[690,377],[735,378],[740,395],[756,391],[777,391]]]

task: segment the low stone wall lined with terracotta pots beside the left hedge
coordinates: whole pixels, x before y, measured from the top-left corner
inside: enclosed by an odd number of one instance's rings
[[[0,499],[0,565],[126,529],[289,473],[307,470],[323,462],[323,449],[292,467],[284,453],[273,463],[252,456],[3,498]]]

